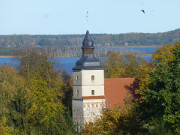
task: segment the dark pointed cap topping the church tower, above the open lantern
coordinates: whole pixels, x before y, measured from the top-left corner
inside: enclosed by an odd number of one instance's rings
[[[86,35],[85,35],[85,38],[84,38],[82,44],[83,44],[82,47],[81,47],[82,49],[85,49],[85,48],[94,49],[94,43],[93,43],[93,41],[91,39],[91,36],[90,36],[88,30],[86,31]]]

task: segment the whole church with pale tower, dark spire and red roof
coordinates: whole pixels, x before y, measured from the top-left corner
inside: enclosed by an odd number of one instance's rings
[[[104,67],[94,55],[94,43],[87,30],[82,57],[73,67],[72,115],[75,125],[83,126],[101,116],[103,108],[114,108],[126,98],[135,97],[135,78],[104,78]]]

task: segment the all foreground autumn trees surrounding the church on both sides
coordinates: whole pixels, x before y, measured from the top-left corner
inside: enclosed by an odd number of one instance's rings
[[[0,134],[180,134],[180,41],[156,50],[152,63],[132,54],[107,55],[105,77],[137,78],[137,102],[127,99],[114,109],[105,108],[99,119],[77,132],[72,77],[55,71],[47,56],[31,53],[18,57],[18,68],[0,66]]]

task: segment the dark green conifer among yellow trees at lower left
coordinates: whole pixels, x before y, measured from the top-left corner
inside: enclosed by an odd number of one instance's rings
[[[29,90],[18,89],[14,99],[8,104],[8,122],[16,129],[17,134],[30,134],[30,119],[28,116],[32,104],[32,94]]]

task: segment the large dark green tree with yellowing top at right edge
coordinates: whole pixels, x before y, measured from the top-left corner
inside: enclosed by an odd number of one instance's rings
[[[153,58],[155,70],[140,86],[140,117],[147,123],[162,118],[166,129],[180,133],[180,42],[160,48]]]

